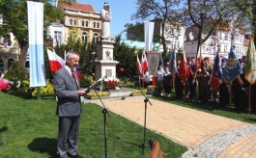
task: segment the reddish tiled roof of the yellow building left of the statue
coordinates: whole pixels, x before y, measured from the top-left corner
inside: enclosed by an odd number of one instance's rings
[[[76,10],[83,12],[96,13],[94,7],[90,4],[79,4],[79,3],[60,3],[59,6],[63,10]]]

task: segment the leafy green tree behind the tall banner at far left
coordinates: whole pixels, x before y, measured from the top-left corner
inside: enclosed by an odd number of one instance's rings
[[[51,0],[38,0],[44,3],[44,39],[47,39],[47,27],[56,19],[63,19],[63,12],[59,8],[53,7]],[[28,49],[28,16],[26,0],[2,0],[0,3],[0,14],[3,17],[3,26],[0,27],[0,36],[7,38],[10,33],[14,34],[17,40],[20,55],[18,58],[21,66],[25,66]]]

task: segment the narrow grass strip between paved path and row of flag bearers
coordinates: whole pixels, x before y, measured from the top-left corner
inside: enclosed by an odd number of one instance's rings
[[[208,103],[191,102],[185,99],[175,99],[174,94],[171,95],[170,98],[165,98],[162,96],[153,97],[153,98],[157,100],[169,102],[172,104],[176,104],[179,106],[183,106],[186,108],[191,108],[191,109],[203,111],[206,113],[210,113],[213,115],[222,116],[225,118],[233,118],[233,119],[241,120],[248,123],[256,123],[255,112],[251,112],[250,114],[248,114],[247,111],[238,111],[235,109],[234,105],[220,106],[215,102],[213,102],[213,99],[210,99]]]

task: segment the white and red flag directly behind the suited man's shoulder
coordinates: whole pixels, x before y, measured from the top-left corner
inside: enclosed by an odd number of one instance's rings
[[[62,66],[65,66],[65,61],[61,57],[59,57],[55,52],[47,49],[47,54],[50,62],[50,70],[52,72],[57,71]]]

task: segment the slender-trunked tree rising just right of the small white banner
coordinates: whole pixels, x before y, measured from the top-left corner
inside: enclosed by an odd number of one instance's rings
[[[179,6],[181,0],[137,0],[137,11],[132,14],[132,19],[145,20],[154,17],[159,20],[161,35],[160,42],[163,45],[163,56],[167,53],[167,46],[165,40],[165,26],[168,21],[178,22]]]

